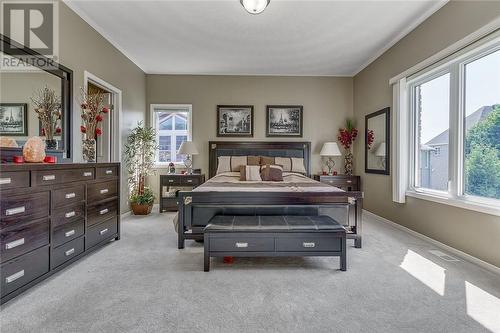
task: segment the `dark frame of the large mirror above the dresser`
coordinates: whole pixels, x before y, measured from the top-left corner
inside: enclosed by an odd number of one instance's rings
[[[15,47],[17,52],[13,52],[12,48]],[[44,55],[21,45],[9,37],[0,34],[0,50],[15,58],[19,58],[20,56],[30,56],[36,57],[44,60],[48,60],[49,58]],[[16,54],[14,54],[16,53]],[[18,54],[22,53],[22,54]],[[62,131],[62,147],[58,150],[46,150],[51,155],[61,154],[64,156],[64,159],[72,159],[72,114],[73,114],[73,71],[58,62],[52,61],[54,64],[54,69],[40,68],[43,71],[55,75],[61,79],[61,123],[64,124],[64,128]],[[3,151],[9,151],[9,155],[14,155],[19,151],[22,151],[21,148],[2,148]],[[3,155],[3,154],[2,154]]]

